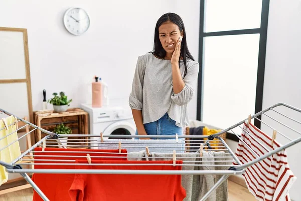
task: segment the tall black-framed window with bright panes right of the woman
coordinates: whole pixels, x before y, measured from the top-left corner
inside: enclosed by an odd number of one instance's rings
[[[262,110],[268,6],[201,0],[198,120],[226,129]]]

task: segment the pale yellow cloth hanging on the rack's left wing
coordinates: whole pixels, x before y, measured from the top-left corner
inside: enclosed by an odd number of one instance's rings
[[[14,123],[15,119],[14,116],[9,116],[5,119],[7,125]],[[4,128],[5,124],[2,120],[0,120],[0,128]],[[9,126],[9,129],[3,129],[0,131],[0,138],[5,137],[6,135],[16,131],[16,125]],[[0,140],[0,149],[3,147],[8,146],[12,142],[18,139],[17,132],[9,135],[8,137]],[[18,156],[21,155],[19,142],[15,142],[12,145],[8,146],[4,150],[0,151],[0,160],[6,163],[11,163],[15,160]],[[0,185],[7,182],[9,173],[6,172],[5,167],[0,165]]]

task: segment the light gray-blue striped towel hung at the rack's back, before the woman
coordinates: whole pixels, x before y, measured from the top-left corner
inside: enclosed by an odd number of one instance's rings
[[[122,149],[126,149],[127,152],[142,151],[149,148],[149,152],[173,152],[173,150],[183,153],[185,150],[185,144],[182,139],[178,142],[173,139],[167,140],[136,140],[136,139],[104,139],[103,142],[98,140],[98,149],[118,149],[118,143],[121,142]]]

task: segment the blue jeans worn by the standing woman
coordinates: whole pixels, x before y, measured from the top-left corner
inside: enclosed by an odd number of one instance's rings
[[[182,128],[176,126],[176,121],[172,120],[167,113],[159,120],[144,124],[147,135],[183,135]],[[138,135],[138,131],[136,131]],[[137,138],[139,139],[139,138]],[[152,139],[175,139],[171,138],[152,138]]]

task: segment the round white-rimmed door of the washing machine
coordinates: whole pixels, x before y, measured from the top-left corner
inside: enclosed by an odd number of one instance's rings
[[[110,124],[104,131],[103,135],[135,135],[136,127],[129,122],[119,121]],[[131,138],[118,138],[109,137],[108,139],[131,139]]]

